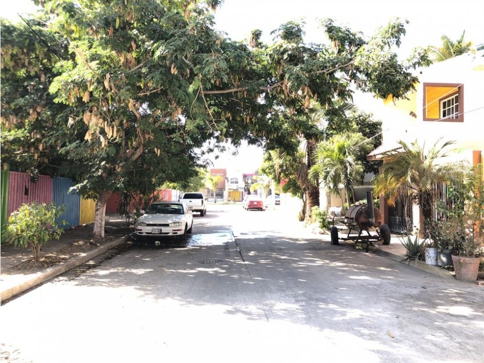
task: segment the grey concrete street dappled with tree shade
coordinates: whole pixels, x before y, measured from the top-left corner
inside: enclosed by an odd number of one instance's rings
[[[186,244],[58,277],[0,307],[2,350],[34,363],[483,362],[482,286],[333,246],[287,208],[211,205]]]

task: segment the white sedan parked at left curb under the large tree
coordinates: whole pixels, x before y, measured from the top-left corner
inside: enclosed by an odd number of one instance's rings
[[[186,234],[192,232],[193,213],[185,203],[155,202],[141,212],[144,214],[134,225],[136,237],[179,236],[185,240]]]

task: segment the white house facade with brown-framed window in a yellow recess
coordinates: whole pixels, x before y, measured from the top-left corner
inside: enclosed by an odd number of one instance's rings
[[[484,150],[484,51],[468,53],[423,68],[417,74],[416,91],[406,100],[384,101],[379,113],[382,119],[383,143],[373,150],[368,160],[381,160],[385,152],[398,149],[398,141],[417,141],[430,147],[439,139],[453,140],[454,149],[442,162],[466,161],[470,165],[483,162]],[[384,223],[394,231],[404,226],[404,209],[413,225],[422,225],[421,211],[416,205],[401,201],[388,206],[381,198]]]

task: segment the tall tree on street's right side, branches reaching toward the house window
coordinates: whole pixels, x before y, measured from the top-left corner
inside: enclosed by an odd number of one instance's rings
[[[315,146],[330,137],[330,131],[347,129],[340,123],[353,124],[345,116],[345,105],[352,101],[353,90],[371,92],[381,98],[390,94],[404,98],[417,81],[412,69],[428,64],[423,51],[417,51],[406,62],[397,60],[394,49],[405,34],[402,21],[395,20],[382,27],[368,41],[349,28],[336,26],[330,19],[324,20],[322,27],[330,45],[306,44],[303,24],[296,22],[277,29],[273,45],[264,48],[254,39],[251,42],[266,50],[273,79],[282,80],[274,83],[278,87],[264,97],[271,100],[274,109],[284,110],[271,114],[270,122],[280,132],[268,140],[267,149],[295,155],[304,141],[306,156],[300,161],[295,179],[305,193],[308,215],[319,203],[319,190],[308,180],[308,170],[315,164]],[[258,35],[253,33],[253,38]],[[322,106],[322,112],[311,107],[314,100]],[[322,118],[326,126],[322,126]]]

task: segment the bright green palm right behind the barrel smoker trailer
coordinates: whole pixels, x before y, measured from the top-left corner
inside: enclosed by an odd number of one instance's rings
[[[354,181],[358,180],[363,173],[363,165],[357,160],[358,155],[371,148],[371,144],[367,141],[369,140],[359,133],[345,133],[321,142],[314,153],[317,164],[309,170],[309,178],[311,180],[321,178],[334,195],[341,196],[342,202],[344,202],[341,188],[343,185],[349,205]]]

